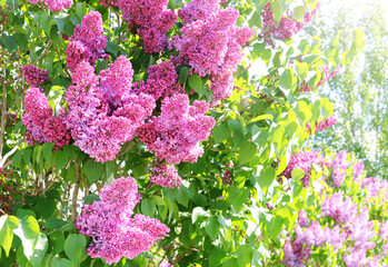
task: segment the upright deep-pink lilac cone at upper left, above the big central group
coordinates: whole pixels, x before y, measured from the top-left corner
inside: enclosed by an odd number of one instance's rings
[[[76,27],[66,49],[67,66],[72,72],[81,61],[94,66],[98,59],[108,58],[108,55],[105,53],[107,37],[102,36],[102,24],[101,14],[90,11],[82,18],[81,24]]]

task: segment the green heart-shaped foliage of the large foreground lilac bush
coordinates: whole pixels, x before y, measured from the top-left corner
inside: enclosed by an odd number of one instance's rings
[[[240,17],[238,24],[260,28],[261,9],[268,0],[231,2]],[[290,1],[275,0],[272,12],[279,21]],[[181,1],[170,1],[175,10]],[[300,1],[292,17],[301,20],[305,10],[312,10],[315,0]],[[66,68],[67,37],[72,34],[81,18],[97,10],[105,21],[108,36],[106,52],[111,59],[99,60],[97,72],[106,69],[118,56],[126,55],[132,63],[135,80],[147,78],[147,69],[167,60],[173,52],[147,55],[139,37],[128,30],[119,10],[108,10],[98,1],[76,2],[66,12],[52,13],[17,0],[0,1],[6,19],[0,47],[1,71],[7,80],[8,111],[21,118],[26,85],[21,67],[33,63],[49,72],[43,85],[53,110],[63,102],[70,85]],[[120,19],[119,19],[120,18]],[[13,27],[17,26],[17,27]],[[179,23],[171,33],[179,32]],[[357,33],[357,32],[356,32]],[[309,138],[306,125],[326,119],[332,106],[316,91],[299,91],[302,82],[315,88],[321,79],[321,68],[334,70],[359,51],[356,38],[354,50],[344,53],[335,39],[330,46],[320,46],[320,39],[273,40],[269,46],[252,38],[245,51],[247,58],[236,73],[231,98],[209,112],[217,125],[205,154],[196,164],[178,166],[183,185],[178,189],[160,188],[148,182],[155,156],[138,140],[122,147],[117,160],[99,164],[67,145],[53,150],[52,144],[27,147],[18,140],[26,135],[20,119],[4,131],[2,155],[11,154],[6,162],[19,181],[20,201],[12,215],[0,217],[0,265],[10,266],[105,266],[101,259],[86,254],[88,240],[76,233],[73,220],[80,211],[78,197],[84,204],[98,200],[98,190],[122,176],[137,178],[141,202],[135,212],[158,218],[170,228],[170,236],[149,253],[133,260],[122,259],[117,266],[157,265],[162,258],[177,266],[260,266],[280,264],[281,229],[292,229],[300,209],[312,207],[316,196],[304,188],[301,170],[292,172],[291,180],[281,180],[290,156]],[[255,69],[261,62],[265,73]],[[189,75],[181,66],[179,82],[190,92],[190,100],[211,101],[208,78]],[[193,93],[191,93],[193,91]],[[312,129],[314,130],[314,129]],[[13,148],[18,148],[12,152]],[[226,179],[229,171],[230,179]],[[79,194],[78,189],[84,194]],[[70,212],[69,212],[70,211]],[[278,256],[273,260],[273,256]]]

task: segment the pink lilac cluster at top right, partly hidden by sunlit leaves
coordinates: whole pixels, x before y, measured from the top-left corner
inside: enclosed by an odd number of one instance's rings
[[[306,12],[304,17],[304,22],[308,23],[311,21],[312,17],[316,14],[317,8],[311,12]],[[296,19],[291,18],[291,13],[287,10],[286,16],[279,21],[279,24],[275,23],[273,13],[271,10],[271,2],[268,2],[261,12],[262,17],[262,36],[266,42],[272,44],[271,36],[277,39],[285,40],[291,38],[295,33],[298,33],[305,23],[298,22]]]

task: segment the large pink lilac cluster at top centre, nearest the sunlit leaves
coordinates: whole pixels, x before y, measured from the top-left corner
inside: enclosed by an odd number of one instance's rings
[[[201,77],[210,76],[215,102],[231,96],[233,72],[242,58],[241,47],[255,31],[236,27],[239,16],[232,8],[221,9],[219,0],[193,0],[179,10],[182,34],[173,41],[179,57]]]

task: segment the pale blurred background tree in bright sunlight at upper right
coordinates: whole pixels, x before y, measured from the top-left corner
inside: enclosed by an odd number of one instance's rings
[[[334,8],[336,7],[336,8]],[[335,107],[337,125],[316,135],[316,147],[328,144],[335,150],[354,151],[367,166],[369,176],[387,178],[388,20],[387,2],[327,1],[307,30],[322,37],[338,34],[340,43],[352,39],[352,29],[364,31],[365,46],[358,60],[350,62],[328,82],[322,93]],[[329,11],[330,10],[330,11]],[[346,60],[346,59],[345,59]]]

